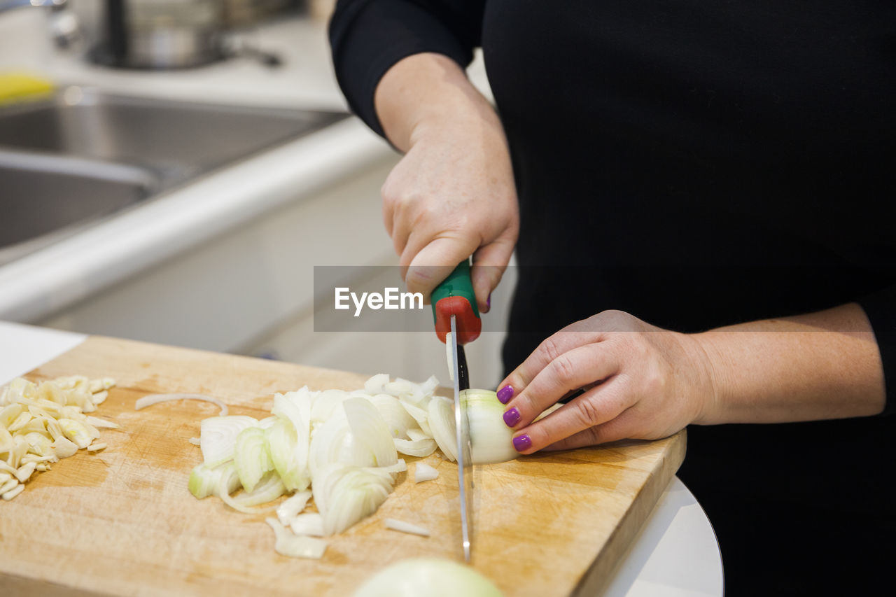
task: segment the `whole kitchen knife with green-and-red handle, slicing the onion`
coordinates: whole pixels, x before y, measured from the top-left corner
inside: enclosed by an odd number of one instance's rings
[[[461,502],[461,549],[470,562],[473,537],[473,469],[470,455],[470,420],[461,390],[470,389],[470,374],[463,345],[476,340],[482,320],[470,280],[470,263],[461,262],[432,295],[435,333],[450,350],[449,372],[454,382],[454,427],[457,431],[457,479]]]

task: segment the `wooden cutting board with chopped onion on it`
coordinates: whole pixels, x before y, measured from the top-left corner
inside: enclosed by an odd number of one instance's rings
[[[80,451],[0,502],[4,597],[345,595],[403,558],[461,558],[457,468],[435,454],[425,460],[437,480],[416,485],[401,473],[379,511],[330,538],[322,559],[285,558],[273,549],[265,515],[238,513],[216,497],[197,500],[186,488],[202,460],[188,440],[217,407],[179,401],[134,411],[145,394],[189,392],[261,419],[275,392],[351,390],[365,376],[90,337],[29,377],[68,375],[115,377],[94,414],[123,430],[103,430],[105,451]],[[683,432],[478,466],[473,565],[507,595],[599,593],[684,455]],[[420,460],[405,459],[410,468]],[[387,530],[387,517],[432,536]]]

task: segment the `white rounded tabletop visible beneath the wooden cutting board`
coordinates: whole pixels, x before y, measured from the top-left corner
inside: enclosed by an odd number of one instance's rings
[[[0,321],[0,384],[85,339],[84,334]],[[710,523],[694,496],[680,480],[674,479],[616,570],[605,595],[721,594],[721,560]]]

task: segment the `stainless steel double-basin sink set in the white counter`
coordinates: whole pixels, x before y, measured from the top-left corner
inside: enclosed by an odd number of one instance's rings
[[[346,116],[80,87],[0,108],[0,264]]]

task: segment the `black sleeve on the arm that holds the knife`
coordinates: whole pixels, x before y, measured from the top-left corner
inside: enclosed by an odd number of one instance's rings
[[[349,107],[377,134],[374,92],[406,56],[444,54],[463,67],[479,45],[485,0],[339,0],[330,21],[333,66]]]

